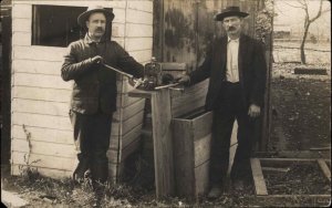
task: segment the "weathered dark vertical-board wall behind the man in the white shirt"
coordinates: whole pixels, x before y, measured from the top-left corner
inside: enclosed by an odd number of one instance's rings
[[[245,33],[256,37],[256,18],[263,9],[264,0],[163,0],[155,1],[154,55],[162,62],[184,62],[188,71],[197,69],[204,61],[206,49],[211,40],[225,35],[215,14],[227,6],[239,6],[250,15],[245,19]],[[270,66],[271,39],[266,39],[267,61]],[[258,126],[257,137],[260,149],[266,149],[269,139],[269,82],[267,76],[266,108],[262,127]],[[235,126],[237,128],[237,125]],[[236,132],[236,131],[234,131]],[[235,141],[236,142],[236,141]]]

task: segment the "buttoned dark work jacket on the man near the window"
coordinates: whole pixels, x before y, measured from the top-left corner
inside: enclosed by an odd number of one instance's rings
[[[69,45],[61,76],[64,81],[74,81],[70,108],[81,114],[98,111],[112,114],[116,111],[116,72],[93,63],[95,55],[101,55],[105,64],[135,77],[143,76],[143,65],[114,41],[96,43],[85,35]]]

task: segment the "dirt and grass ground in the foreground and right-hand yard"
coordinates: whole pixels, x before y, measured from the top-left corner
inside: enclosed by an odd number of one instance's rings
[[[297,153],[318,147],[331,147],[330,65],[314,65],[328,69],[328,75],[295,75],[293,74],[295,66],[300,65],[273,64],[272,128],[269,143],[271,152]],[[319,152],[322,157],[330,158],[331,148],[328,152]],[[264,173],[268,191],[289,195],[331,194],[331,184],[318,167],[302,167],[292,166],[290,173],[281,175]],[[282,183],[282,178],[286,183]],[[77,186],[69,179],[59,181],[30,174],[23,177],[2,177],[1,181],[6,190],[14,190],[29,200],[28,207],[91,207],[92,205],[92,193],[89,186]],[[318,204],[317,199],[299,196],[288,199],[259,198],[255,196],[252,184],[242,193],[230,191],[215,201],[206,198],[199,198],[195,202],[179,198],[157,201],[154,191],[153,186],[148,188],[133,184],[110,186],[106,188],[102,207],[312,207],[322,205]],[[324,200],[323,205],[328,202]]]

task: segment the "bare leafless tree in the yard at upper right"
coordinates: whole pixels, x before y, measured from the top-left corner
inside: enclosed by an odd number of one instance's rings
[[[300,8],[304,11],[305,15],[304,15],[304,31],[303,31],[303,37],[302,37],[302,40],[301,40],[301,45],[300,45],[300,51],[301,51],[301,63],[302,64],[305,64],[305,52],[304,52],[304,45],[305,45],[305,41],[307,41],[307,37],[308,37],[308,31],[309,31],[309,27],[311,25],[312,22],[314,22],[317,19],[319,19],[323,13],[328,12],[328,11],[331,11],[330,9],[329,10],[322,10],[322,6],[323,6],[323,0],[320,0],[320,8],[317,12],[317,14],[311,18],[310,14],[309,14],[309,3],[308,3],[308,0],[297,0],[298,1],[298,6],[294,6],[294,4],[290,4],[290,3],[287,3],[293,8]]]

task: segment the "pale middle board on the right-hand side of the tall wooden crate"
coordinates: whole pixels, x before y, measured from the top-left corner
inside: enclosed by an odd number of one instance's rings
[[[210,158],[210,144],[211,144],[211,134],[207,136],[195,139],[195,167],[206,163]]]

